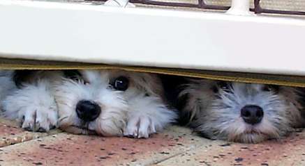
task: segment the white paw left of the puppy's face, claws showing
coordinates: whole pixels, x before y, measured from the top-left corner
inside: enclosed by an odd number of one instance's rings
[[[27,131],[46,132],[57,127],[57,110],[54,108],[28,106],[20,113],[22,128]]]

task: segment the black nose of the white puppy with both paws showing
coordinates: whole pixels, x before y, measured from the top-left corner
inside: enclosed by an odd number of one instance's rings
[[[82,100],[76,105],[76,113],[84,122],[91,122],[100,115],[101,107],[92,101]]]

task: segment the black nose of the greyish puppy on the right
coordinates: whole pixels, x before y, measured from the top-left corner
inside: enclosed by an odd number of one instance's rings
[[[247,105],[241,108],[241,117],[248,124],[258,124],[262,121],[264,112],[260,106]]]

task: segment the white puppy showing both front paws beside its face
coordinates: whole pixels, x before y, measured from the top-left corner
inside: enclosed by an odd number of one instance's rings
[[[29,131],[59,126],[77,134],[148,138],[177,116],[165,105],[154,74],[39,71],[13,78],[20,89],[2,101],[3,115],[19,120]]]

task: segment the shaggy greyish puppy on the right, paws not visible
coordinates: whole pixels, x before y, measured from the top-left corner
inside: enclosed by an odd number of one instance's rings
[[[179,94],[182,115],[204,137],[256,143],[304,126],[297,88],[191,80]]]

